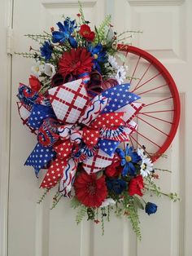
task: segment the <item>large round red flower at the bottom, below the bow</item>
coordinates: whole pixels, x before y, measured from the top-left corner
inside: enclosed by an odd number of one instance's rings
[[[97,178],[96,174],[87,174],[84,171],[77,176],[74,188],[77,199],[88,207],[102,205],[107,197],[107,186],[104,176]]]

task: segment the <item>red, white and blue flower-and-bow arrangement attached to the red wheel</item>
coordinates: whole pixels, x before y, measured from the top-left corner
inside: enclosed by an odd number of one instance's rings
[[[20,83],[17,103],[23,124],[37,135],[25,166],[33,166],[37,177],[47,169],[39,202],[59,185],[53,207],[69,197],[78,208],[77,223],[87,215],[103,227],[114,211],[127,216],[141,238],[137,209],[157,210],[142,196],[151,192],[177,201],[177,194],[160,191],[146,148],[129,145],[129,135],[137,130],[133,117],[143,104],[124,83],[128,67],[116,59],[120,36],[110,15],[94,31],[81,6],[77,17],[64,18],[51,33],[28,34],[40,49],[20,53],[35,60],[29,86]]]

